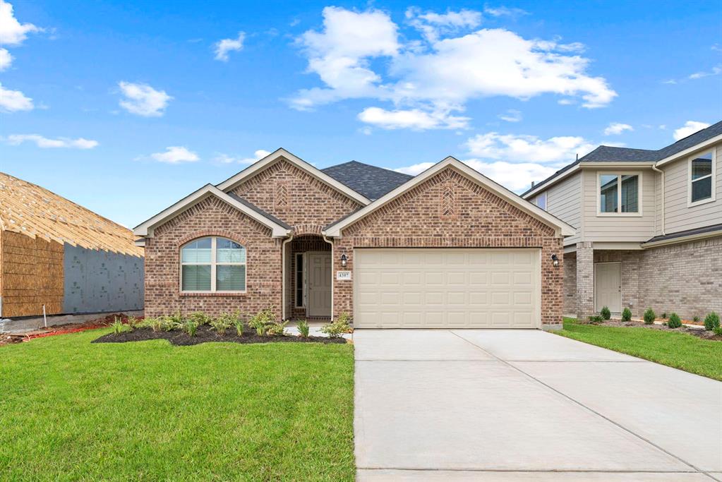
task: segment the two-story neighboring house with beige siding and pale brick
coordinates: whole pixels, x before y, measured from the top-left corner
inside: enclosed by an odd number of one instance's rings
[[[722,312],[722,122],[657,151],[599,146],[523,193],[576,228],[564,312]]]

